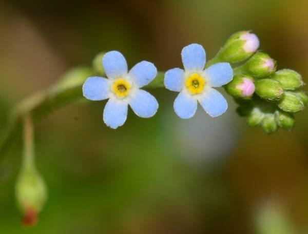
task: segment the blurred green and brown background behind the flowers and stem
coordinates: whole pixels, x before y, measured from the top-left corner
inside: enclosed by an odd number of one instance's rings
[[[0,123],[16,102],[101,51],[167,70],[182,66],[184,46],[202,44],[210,59],[240,30],[253,30],[279,69],[308,83],[307,10],[306,0],[2,0]],[[0,159],[0,233],[258,233],[269,203],[307,233],[307,110],[292,132],[266,135],[247,127],[232,99],[219,118],[199,108],[180,120],[176,93],[151,93],[158,113],[140,119],[130,110],[118,130],[104,125],[104,102],[69,105],[35,125],[49,198],[32,228],[21,225],[14,198],[16,139]]]

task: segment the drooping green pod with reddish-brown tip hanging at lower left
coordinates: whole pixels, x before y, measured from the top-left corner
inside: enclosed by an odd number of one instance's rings
[[[47,198],[45,183],[35,168],[21,170],[16,183],[16,198],[24,213],[24,225],[34,225]]]

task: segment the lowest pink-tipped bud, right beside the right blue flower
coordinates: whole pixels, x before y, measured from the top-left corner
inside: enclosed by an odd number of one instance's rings
[[[255,92],[254,79],[252,76],[239,74],[225,88],[235,98],[250,99]]]

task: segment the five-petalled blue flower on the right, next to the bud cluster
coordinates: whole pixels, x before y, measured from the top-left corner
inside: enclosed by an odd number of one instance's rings
[[[174,109],[182,119],[195,115],[197,103],[211,117],[223,114],[228,104],[213,87],[220,87],[232,81],[233,70],[228,63],[217,63],[204,70],[205,51],[201,45],[191,44],[182,50],[185,70],[170,69],[165,73],[164,84],[171,91],[180,92],[174,102]]]

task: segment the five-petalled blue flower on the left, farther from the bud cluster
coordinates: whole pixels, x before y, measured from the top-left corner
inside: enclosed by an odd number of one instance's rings
[[[92,101],[109,99],[103,113],[103,120],[110,128],[122,126],[127,118],[128,105],[142,118],[152,117],[158,102],[150,93],[140,89],[157,75],[156,67],[142,61],[129,72],[124,56],[110,51],[103,57],[103,68],[108,79],[89,77],[83,85],[83,95]]]

